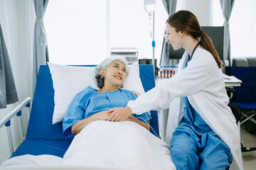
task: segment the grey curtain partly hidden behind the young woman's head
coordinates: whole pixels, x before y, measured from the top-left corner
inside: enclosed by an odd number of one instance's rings
[[[168,13],[169,16],[176,11],[177,0],[162,0],[162,1],[164,4],[164,8],[166,9],[166,12]],[[164,30],[164,33],[165,32],[166,31]],[[161,60],[160,60],[161,66],[169,65],[169,62],[170,62],[169,50],[170,50],[170,45],[166,42],[164,38],[162,50],[161,50]]]

